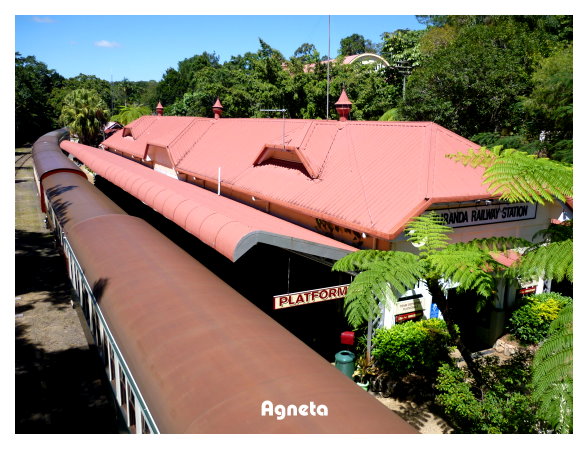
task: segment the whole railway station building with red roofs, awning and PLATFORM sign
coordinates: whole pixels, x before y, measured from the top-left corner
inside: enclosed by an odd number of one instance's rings
[[[571,217],[569,204],[508,204],[489,195],[481,169],[446,157],[478,146],[435,123],[353,121],[345,91],[335,106],[339,120],[223,118],[220,99],[213,117],[173,117],[160,104],[99,149],[61,147],[202,242],[201,257],[216,259],[237,290],[325,357],[350,330],[341,298],[352,276],[331,271],[345,254],[416,252],[403,230],[431,210],[454,228],[452,242],[532,240],[552,220]],[[482,344],[504,331],[520,289],[501,285],[479,316],[474,301],[460,300],[459,314]],[[434,316],[419,285],[380,325]]]

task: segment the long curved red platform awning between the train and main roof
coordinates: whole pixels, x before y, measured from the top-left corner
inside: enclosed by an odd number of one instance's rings
[[[108,151],[69,141],[61,147],[233,261],[257,243],[331,259],[356,250]]]

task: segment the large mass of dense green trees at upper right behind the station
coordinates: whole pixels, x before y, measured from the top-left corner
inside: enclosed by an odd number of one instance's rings
[[[429,27],[400,104],[405,119],[433,120],[486,146],[516,136],[516,148],[571,162],[570,16],[422,19]]]

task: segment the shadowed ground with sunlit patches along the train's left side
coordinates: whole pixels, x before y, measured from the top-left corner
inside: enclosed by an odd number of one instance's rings
[[[98,353],[45,229],[30,148],[15,152],[15,433],[120,433]]]

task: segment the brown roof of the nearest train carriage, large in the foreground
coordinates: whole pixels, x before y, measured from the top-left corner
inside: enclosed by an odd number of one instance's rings
[[[416,433],[144,221],[69,239],[161,432]],[[328,416],[262,417],[265,400]]]

